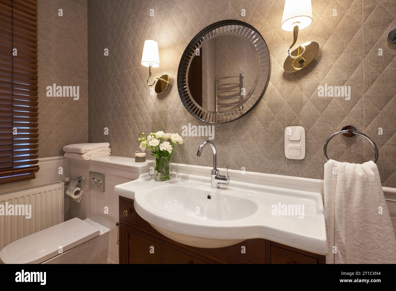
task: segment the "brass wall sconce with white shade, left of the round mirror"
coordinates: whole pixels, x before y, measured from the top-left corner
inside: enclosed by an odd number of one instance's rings
[[[170,83],[169,74],[162,75],[159,78],[155,78],[152,84],[148,83],[151,78],[151,70],[152,68],[158,68],[160,66],[160,55],[158,53],[158,43],[155,40],[146,40],[145,46],[143,47],[143,55],[142,55],[142,65],[148,67],[148,79],[147,85],[152,86],[155,85],[155,93],[161,93]]]

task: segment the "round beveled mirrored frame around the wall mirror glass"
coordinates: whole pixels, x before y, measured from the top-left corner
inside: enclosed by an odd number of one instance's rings
[[[193,100],[188,91],[187,72],[196,50],[200,49],[204,42],[222,34],[243,36],[251,44],[256,54],[258,78],[253,89],[246,95],[247,98],[244,102],[234,106],[234,108],[228,111],[216,113],[215,111],[205,111]],[[194,117],[207,123],[226,123],[241,118],[257,105],[267,89],[270,75],[270,53],[263,36],[261,36],[253,26],[243,21],[223,20],[202,29],[190,43],[188,43],[180,59],[179,69],[177,70],[177,89],[181,102]],[[242,111],[240,108],[242,108]]]

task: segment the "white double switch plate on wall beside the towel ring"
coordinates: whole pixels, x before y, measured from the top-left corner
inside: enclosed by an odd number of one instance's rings
[[[299,131],[299,132],[298,132]],[[299,134],[300,133],[300,134]],[[300,140],[297,140],[300,135]],[[290,137],[290,138],[289,138]],[[300,155],[296,155],[300,147]],[[305,158],[305,129],[302,126],[285,128],[285,156],[287,159],[302,160]]]

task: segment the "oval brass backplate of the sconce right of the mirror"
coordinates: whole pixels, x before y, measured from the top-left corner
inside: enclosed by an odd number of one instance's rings
[[[319,52],[319,43],[317,42],[306,42],[301,45],[302,47],[305,47],[305,52],[303,55],[299,58],[292,58],[292,57],[287,57],[284,64],[283,68],[286,72],[288,73],[293,73],[301,70],[302,68],[305,68],[316,58],[316,55],[318,55]],[[301,54],[301,46],[297,47],[294,51],[291,52],[292,56],[298,56]]]

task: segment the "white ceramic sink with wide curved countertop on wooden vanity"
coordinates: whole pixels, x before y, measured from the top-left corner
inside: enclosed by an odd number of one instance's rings
[[[181,173],[166,182],[143,174],[135,181],[117,185],[114,191],[134,199],[136,212],[158,232],[188,246],[220,248],[265,238],[313,253],[327,253],[320,193],[260,185],[247,176],[243,178],[249,183],[233,180],[232,174],[238,176],[239,172],[230,170],[230,185],[221,185],[220,189],[211,189],[209,170],[207,176]],[[274,212],[274,205],[300,206],[304,213],[279,215],[282,213]]]

